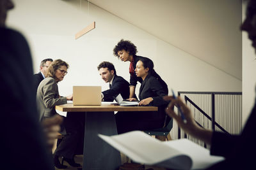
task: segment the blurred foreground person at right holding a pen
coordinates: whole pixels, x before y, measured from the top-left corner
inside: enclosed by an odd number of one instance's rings
[[[256,50],[256,1],[250,0],[247,4],[246,19],[241,25],[241,30],[248,33],[249,39],[252,40],[252,46]],[[178,97],[174,99],[172,96],[164,97],[166,101],[171,101],[166,108],[166,113],[173,117],[179,127],[187,134],[198,138],[205,143],[211,145],[211,155],[220,155],[225,160],[214,164],[209,169],[256,169],[255,166],[255,136],[256,129],[256,101],[252,109],[250,117],[244,125],[240,135],[230,135],[223,132],[216,132],[199,127],[189,110],[188,106]],[[180,106],[186,118],[183,122],[180,115],[172,110],[174,106]]]

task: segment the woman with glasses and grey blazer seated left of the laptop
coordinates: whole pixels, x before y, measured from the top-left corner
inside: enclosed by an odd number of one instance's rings
[[[73,99],[72,94],[67,97],[60,96],[57,84],[62,81],[67,74],[68,67],[67,62],[63,60],[54,60],[48,68],[46,78],[39,84],[36,101],[40,113],[40,121],[44,120],[44,118],[58,114],[55,110],[56,105],[66,104],[68,100],[70,101]],[[81,166],[74,162],[77,143],[79,143],[81,136],[83,136],[83,132],[80,132],[81,129],[83,129],[83,125],[77,118],[79,118],[78,114],[70,114],[64,118],[63,126],[65,127],[67,134],[65,134],[60,145],[58,145],[53,153],[54,166],[59,169],[67,168],[67,166],[63,165],[63,160],[68,162],[70,166]],[[59,157],[62,157],[61,163]]]

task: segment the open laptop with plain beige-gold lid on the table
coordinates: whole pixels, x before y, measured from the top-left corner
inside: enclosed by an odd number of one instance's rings
[[[101,105],[101,86],[73,86],[73,105]]]

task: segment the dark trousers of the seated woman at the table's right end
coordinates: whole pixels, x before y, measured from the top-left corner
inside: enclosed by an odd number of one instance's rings
[[[115,114],[118,134],[130,131],[148,131],[164,125],[163,114],[157,111],[118,111]]]

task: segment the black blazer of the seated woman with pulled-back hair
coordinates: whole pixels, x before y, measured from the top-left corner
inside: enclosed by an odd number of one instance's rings
[[[162,87],[159,80],[156,77],[148,75],[141,83],[140,87],[140,100],[152,97],[153,101],[148,104],[149,106],[158,106],[158,113],[163,117],[166,115],[164,109],[168,105],[168,102],[163,100],[163,96],[168,95]]]

